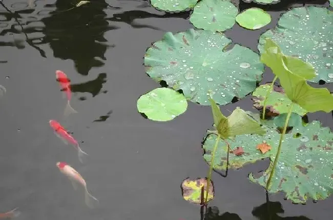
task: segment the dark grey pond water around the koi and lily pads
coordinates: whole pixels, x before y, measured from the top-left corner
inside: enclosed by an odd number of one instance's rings
[[[257,52],[259,35],[276,25],[281,11],[302,6],[283,2],[262,6],[273,17],[264,30],[236,24],[226,35]],[[186,19],[190,12],[167,14],[134,0],[98,0],[67,12],[61,11],[72,7],[69,0],[37,0],[31,7],[25,0],[3,4],[10,12],[0,5],[0,84],[7,88],[0,100],[0,212],[19,207],[17,219],[29,220],[200,219],[199,206],[183,200],[180,184],[186,177],[206,176],[201,140],[213,123],[210,107],[189,103],[184,114],[166,123],[145,119],[136,108],[141,94],[160,86],[144,72],[145,50],[166,31],[193,28]],[[253,6],[241,3],[240,9]],[[63,117],[66,100],[55,80],[57,69],[73,84],[71,105],[78,114],[68,118]],[[266,71],[261,84],[272,79]],[[250,97],[222,111],[228,115],[237,106],[255,111]],[[331,113],[308,118],[333,127]],[[81,164],[72,146],[53,134],[50,119],[73,132],[89,154],[87,163]],[[99,199],[96,209],[87,208],[57,161],[71,164],[86,179]],[[283,193],[269,196],[269,217],[264,189],[247,180],[249,172],[267,165],[261,161],[230,170],[227,178],[214,173],[210,206],[217,206],[221,216],[207,219],[332,219],[333,197],[293,205]]]

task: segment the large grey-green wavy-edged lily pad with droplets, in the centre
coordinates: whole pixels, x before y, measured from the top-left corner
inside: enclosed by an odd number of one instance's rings
[[[210,105],[207,94],[220,105],[241,99],[256,88],[263,64],[259,55],[235,44],[223,34],[189,29],[172,34],[148,48],[144,57],[147,74],[164,80],[174,89],[182,89],[186,98]]]

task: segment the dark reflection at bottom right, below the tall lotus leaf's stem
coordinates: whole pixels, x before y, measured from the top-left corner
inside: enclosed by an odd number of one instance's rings
[[[255,207],[252,214],[259,220],[311,220],[303,215],[281,217],[278,214],[283,214],[284,210],[280,202],[270,202],[268,200],[268,194],[266,193],[266,203]]]

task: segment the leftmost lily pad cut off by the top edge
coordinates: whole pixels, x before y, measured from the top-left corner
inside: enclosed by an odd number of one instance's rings
[[[152,6],[164,11],[183,11],[193,8],[198,0],[151,0]]]

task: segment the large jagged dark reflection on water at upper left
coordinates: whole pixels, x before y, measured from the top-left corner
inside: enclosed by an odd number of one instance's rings
[[[45,24],[43,42],[49,43],[54,57],[73,60],[79,74],[86,76],[92,67],[104,65],[107,48],[115,45],[103,35],[118,27],[105,19],[103,10],[108,4],[103,0],[68,10],[73,5],[73,1],[58,0],[51,16],[41,19]]]

